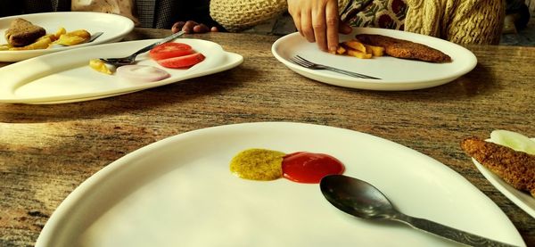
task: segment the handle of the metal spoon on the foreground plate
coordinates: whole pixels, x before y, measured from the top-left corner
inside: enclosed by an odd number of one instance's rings
[[[401,215],[399,217],[396,217],[395,219],[403,221],[404,223],[407,223],[410,226],[431,233],[433,235],[439,235],[449,240],[453,240],[457,243],[465,243],[470,246],[514,246],[508,243],[501,243],[495,240],[491,240],[480,235],[466,233],[465,231],[461,231],[459,229],[455,229],[449,226],[444,226],[424,218]]]

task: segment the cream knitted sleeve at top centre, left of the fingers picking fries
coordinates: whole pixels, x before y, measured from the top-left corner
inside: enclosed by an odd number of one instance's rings
[[[249,29],[287,9],[286,0],[211,0],[210,16],[229,31]]]

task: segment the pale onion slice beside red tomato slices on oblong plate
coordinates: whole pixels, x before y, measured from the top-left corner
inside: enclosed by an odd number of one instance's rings
[[[149,65],[124,65],[117,68],[116,73],[121,78],[140,82],[159,81],[171,76],[167,71]]]

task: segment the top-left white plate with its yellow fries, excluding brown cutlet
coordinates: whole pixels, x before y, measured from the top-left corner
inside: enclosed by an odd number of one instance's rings
[[[42,27],[46,31],[46,38],[39,38],[30,45],[12,47],[5,39],[5,32],[13,20],[22,18],[32,24]],[[130,19],[111,13],[103,12],[41,12],[9,16],[0,18],[0,62],[19,62],[43,54],[65,51],[88,45],[116,42],[128,35],[134,29],[134,22]],[[103,32],[94,41],[88,43],[87,35]],[[62,45],[58,38],[63,36]],[[83,40],[78,40],[81,35]],[[50,37],[48,39],[47,37]],[[55,42],[54,42],[55,41]]]

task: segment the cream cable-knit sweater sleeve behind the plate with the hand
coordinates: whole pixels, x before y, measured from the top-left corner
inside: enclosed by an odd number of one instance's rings
[[[407,0],[405,30],[457,44],[498,44],[504,0]]]

